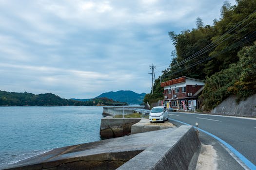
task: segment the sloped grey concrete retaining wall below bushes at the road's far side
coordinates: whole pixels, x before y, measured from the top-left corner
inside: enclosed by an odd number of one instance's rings
[[[221,115],[256,117],[256,94],[236,103],[236,96],[230,96],[215,107],[211,113]]]

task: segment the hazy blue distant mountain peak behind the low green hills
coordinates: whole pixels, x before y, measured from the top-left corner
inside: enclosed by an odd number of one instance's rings
[[[102,93],[96,98],[106,97],[109,99],[113,99],[114,101],[127,102],[129,104],[141,104],[143,103],[145,95],[146,93],[138,94],[130,90],[120,90],[117,92],[110,91],[107,93]]]

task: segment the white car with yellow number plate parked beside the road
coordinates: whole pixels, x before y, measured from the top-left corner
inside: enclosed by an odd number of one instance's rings
[[[164,122],[167,119],[168,119],[168,112],[165,106],[157,106],[151,109],[149,114],[150,122],[153,122],[153,121]]]

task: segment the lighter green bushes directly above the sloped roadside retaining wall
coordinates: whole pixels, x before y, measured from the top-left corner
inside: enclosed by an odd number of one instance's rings
[[[237,101],[256,93],[256,42],[238,52],[239,62],[206,79],[201,98],[206,110],[213,109],[229,95]]]

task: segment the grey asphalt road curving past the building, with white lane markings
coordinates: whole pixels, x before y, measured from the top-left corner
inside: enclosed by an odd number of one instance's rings
[[[180,112],[169,112],[169,118],[170,122],[177,125],[181,123],[171,119],[193,126],[197,122],[198,128],[224,140],[256,165],[256,119]]]

